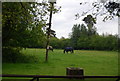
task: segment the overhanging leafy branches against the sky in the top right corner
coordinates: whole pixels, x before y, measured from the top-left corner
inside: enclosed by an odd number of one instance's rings
[[[103,2],[102,2],[103,1]],[[101,0],[101,2],[93,2],[92,8],[88,11],[84,11],[82,15],[77,13],[76,19],[80,18],[81,16],[85,16],[88,13],[94,15],[96,18],[97,16],[103,16],[103,21],[111,20],[114,17],[120,17],[120,3],[116,2],[117,0],[110,1],[110,0]],[[80,3],[80,5],[85,5],[87,3]]]

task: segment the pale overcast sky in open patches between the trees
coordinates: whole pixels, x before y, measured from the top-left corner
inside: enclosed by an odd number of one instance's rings
[[[75,20],[76,13],[82,13],[85,10],[91,9],[90,4],[80,6],[82,0],[57,0],[57,6],[61,6],[61,12],[53,14],[52,17],[52,29],[56,31],[56,36],[58,38],[65,37],[68,38],[70,32],[72,32],[72,27],[74,24],[83,23],[82,18]],[[88,1],[88,0],[83,0]],[[96,0],[89,0],[89,2]],[[107,22],[102,21],[102,17],[98,17],[97,32],[99,34],[109,33],[117,34],[118,33],[118,18]]]

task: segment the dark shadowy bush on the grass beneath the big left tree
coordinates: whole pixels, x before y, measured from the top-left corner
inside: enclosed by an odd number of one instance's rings
[[[28,56],[20,52],[21,48],[3,48],[2,62],[6,63],[31,63],[37,62],[38,58],[35,56]]]

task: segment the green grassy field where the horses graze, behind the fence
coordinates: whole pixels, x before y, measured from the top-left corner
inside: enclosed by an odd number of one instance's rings
[[[3,63],[3,74],[66,75],[66,67],[80,67],[85,75],[118,75],[118,53],[113,51],[75,50],[74,54],[64,54],[55,49],[49,52],[48,63],[45,49],[22,52],[33,58],[31,63]]]

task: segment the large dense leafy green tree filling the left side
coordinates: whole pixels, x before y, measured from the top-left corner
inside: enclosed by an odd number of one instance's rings
[[[43,40],[42,27],[46,23],[47,15],[42,11],[43,8],[44,4],[36,2],[2,3],[3,57],[5,54],[17,55],[21,48],[29,47],[32,43],[38,44]],[[9,57],[9,55],[6,56]]]

